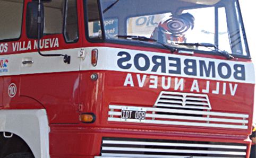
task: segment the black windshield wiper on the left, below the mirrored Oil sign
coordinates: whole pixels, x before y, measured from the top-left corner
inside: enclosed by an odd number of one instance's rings
[[[161,43],[161,42],[158,42],[157,40],[155,39],[152,39],[152,38],[147,38],[147,37],[144,37],[144,36],[121,36],[121,35],[117,35],[116,37],[118,38],[124,38],[124,39],[133,39],[133,40],[140,40],[140,41],[153,41],[153,42],[156,42],[156,43],[159,43],[160,45],[164,46],[165,48],[167,48],[168,50],[170,50],[170,52],[174,53],[175,51],[177,51],[176,48],[174,47],[171,47],[171,46],[168,46],[166,45],[165,43]]]

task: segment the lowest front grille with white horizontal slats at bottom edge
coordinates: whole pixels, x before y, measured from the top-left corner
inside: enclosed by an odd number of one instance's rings
[[[106,157],[245,157],[246,145],[238,143],[104,137],[101,156]]]

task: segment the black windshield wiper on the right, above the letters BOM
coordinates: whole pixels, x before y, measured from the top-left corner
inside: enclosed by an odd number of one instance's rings
[[[201,47],[206,47],[206,48],[214,47],[215,49],[211,49],[211,50],[216,51],[219,54],[225,56],[228,60],[231,60],[234,58],[232,55],[228,54],[228,52],[220,50],[216,45],[214,45],[212,43],[175,43],[175,44],[184,45],[184,46],[196,46],[196,47],[201,46]]]

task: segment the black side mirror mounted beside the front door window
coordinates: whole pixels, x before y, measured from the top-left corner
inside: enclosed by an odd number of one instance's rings
[[[26,13],[26,32],[30,39],[38,39],[38,33],[42,38],[44,34],[44,4],[42,3],[40,4],[40,16],[38,14],[38,2],[29,2]],[[40,26],[39,30],[38,26]]]

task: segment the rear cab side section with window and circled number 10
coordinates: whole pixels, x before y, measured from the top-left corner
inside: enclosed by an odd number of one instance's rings
[[[4,109],[10,108],[10,102],[19,98],[16,93],[20,82],[19,67],[15,67],[18,54],[12,57],[11,54],[12,46],[21,39],[23,4],[23,1],[0,0],[0,109],[3,106]]]

